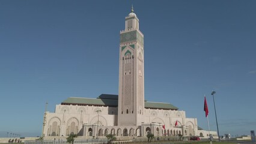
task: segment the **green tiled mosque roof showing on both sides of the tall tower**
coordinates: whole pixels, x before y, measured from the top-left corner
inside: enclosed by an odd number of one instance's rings
[[[109,107],[117,107],[118,106],[118,95],[109,95],[102,94],[98,98],[81,98],[81,97],[69,97],[67,100],[62,101],[63,105],[94,105],[94,106],[109,106]],[[170,103],[158,103],[158,102],[150,102],[145,101],[145,108],[150,109],[171,109],[178,110],[178,107],[173,106]]]

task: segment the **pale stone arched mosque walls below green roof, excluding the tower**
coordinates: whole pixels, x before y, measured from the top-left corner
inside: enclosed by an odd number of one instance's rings
[[[140,125],[117,125],[117,107],[56,105],[55,113],[46,113],[44,136],[155,136],[198,135],[196,118],[186,118],[184,111],[144,109]],[[96,111],[100,110],[100,113]],[[98,115],[99,114],[99,115]],[[99,121],[98,121],[99,116]],[[178,125],[175,125],[175,122]],[[165,125],[165,129],[163,128]]]

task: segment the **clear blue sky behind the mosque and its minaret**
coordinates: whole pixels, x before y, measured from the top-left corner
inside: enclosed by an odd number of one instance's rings
[[[221,134],[256,130],[256,1],[0,1],[0,137],[40,136],[44,105],[118,94],[120,30],[144,33],[145,99]],[[10,134],[9,134],[10,135]]]

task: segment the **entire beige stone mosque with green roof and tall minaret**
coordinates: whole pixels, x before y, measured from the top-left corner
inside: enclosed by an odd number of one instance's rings
[[[170,103],[144,99],[144,35],[133,8],[120,31],[118,95],[97,98],[69,97],[46,112],[43,136],[201,136],[208,131],[198,127],[197,118],[186,118],[184,111]],[[212,131],[217,135],[215,131]]]

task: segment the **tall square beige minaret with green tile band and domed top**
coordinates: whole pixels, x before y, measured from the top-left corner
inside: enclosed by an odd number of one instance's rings
[[[133,13],[120,31],[118,125],[144,122],[144,35]]]

